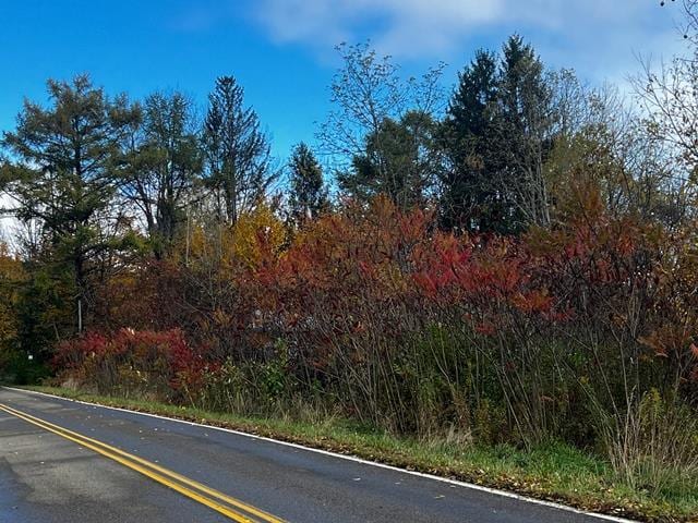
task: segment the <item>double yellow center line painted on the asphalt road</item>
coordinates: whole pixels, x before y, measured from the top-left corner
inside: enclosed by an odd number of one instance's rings
[[[0,411],[4,411],[8,414],[31,423],[32,425],[36,425],[49,433],[53,433],[62,438],[69,439],[82,447],[85,447],[86,449],[109,458],[123,466],[128,466],[129,469],[202,503],[216,512],[220,512],[232,521],[237,521],[239,523],[285,523],[284,520],[256,509],[243,501],[240,501],[239,499],[219,492],[206,485],[182,476],[181,474],[157,465],[156,463],[144,460],[143,458],[130,454],[121,449],[117,449],[116,447],[111,447],[110,445],[104,443],[99,440],[88,438],[82,434],[74,433],[2,403],[0,403]]]

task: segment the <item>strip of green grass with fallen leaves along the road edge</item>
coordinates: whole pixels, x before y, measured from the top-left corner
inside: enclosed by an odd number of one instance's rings
[[[26,388],[274,437],[618,516],[652,522],[698,521],[698,489],[673,488],[660,494],[634,489],[616,477],[606,461],[565,443],[524,451],[512,446],[425,442],[347,419],[302,423],[255,418],[72,389]]]

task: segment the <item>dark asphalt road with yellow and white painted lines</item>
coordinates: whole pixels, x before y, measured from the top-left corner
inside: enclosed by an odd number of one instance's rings
[[[0,522],[94,521],[602,520],[213,428],[0,389]]]

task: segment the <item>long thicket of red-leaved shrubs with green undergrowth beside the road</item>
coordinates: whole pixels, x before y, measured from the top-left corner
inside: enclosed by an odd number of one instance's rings
[[[631,216],[590,205],[519,238],[454,235],[377,198],[309,221],[282,247],[256,238],[254,263],[202,235],[196,256],[113,282],[110,318],[140,330],[64,343],[56,365],[101,384],[145,373],[174,394],[224,366],[248,390],[278,372],[405,430],[437,412],[466,423],[486,398],[541,434],[582,389],[601,384],[613,400],[698,374],[698,256]]]

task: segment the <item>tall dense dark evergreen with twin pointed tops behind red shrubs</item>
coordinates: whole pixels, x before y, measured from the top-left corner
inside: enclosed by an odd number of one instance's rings
[[[497,59],[479,51],[461,73],[444,124],[450,170],[442,179],[447,228],[516,233],[550,224],[543,165],[555,131],[551,78],[533,48],[512,36]]]

